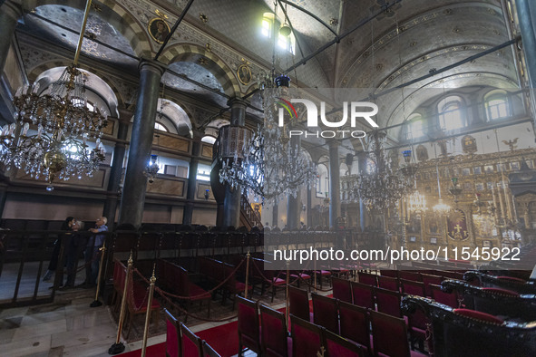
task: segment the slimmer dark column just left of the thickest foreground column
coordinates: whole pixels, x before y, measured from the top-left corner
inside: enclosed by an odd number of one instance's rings
[[[106,202],[104,202],[102,213],[104,217],[108,218],[108,227],[111,228],[115,223],[115,213],[119,203],[118,198],[120,198],[119,185],[121,184],[122,163],[126,150],[125,141],[127,140],[131,118],[131,111],[120,110],[120,118],[119,121],[117,121],[119,125],[117,130],[118,141],[113,148],[112,169],[110,170],[110,178],[108,180],[108,193],[106,194]]]

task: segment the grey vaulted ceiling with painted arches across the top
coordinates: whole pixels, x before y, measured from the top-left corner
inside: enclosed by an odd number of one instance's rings
[[[152,4],[161,5],[162,11],[167,9],[180,14],[186,2],[158,0]],[[54,1],[47,3],[54,4]],[[76,31],[82,18],[79,8],[83,2],[62,3],[37,7],[34,10],[37,16],[25,16],[24,31],[74,47],[76,35],[57,24]],[[140,2],[122,0],[121,3]],[[276,53],[278,72],[298,64],[296,71],[288,74],[294,80],[297,77],[300,86],[311,88],[313,92],[316,88],[336,87],[365,88],[364,92],[377,94],[437,71],[405,88],[402,94],[398,91],[383,97],[379,103],[384,112],[380,122],[393,125],[403,120],[402,116],[395,115],[400,112],[403,98],[407,99],[404,112],[409,115],[421,102],[437,94],[427,91],[430,88],[518,87],[515,61],[508,46],[449,71],[438,71],[510,40],[508,16],[504,14],[502,3],[506,2],[400,0],[386,8],[385,0],[197,0],[185,21],[233,47],[246,60],[270,68],[274,46],[260,34],[260,24],[264,13],[276,11],[280,23],[288,19],[297,39],[295,55],[285,51]],[[109,46],[90,42],[85,44],[84,53],[132,70],[136,65],[135,59],[129,57],[134,53],[132,42],[122,36],[117,26],[102,21],[99,16],[99,13],[90,16],[88,31]],[[179,34],[181,26],[177,30]],[[332,45],[327,45],[331,42]],[[323,46],[325,49],[318,51]],[[315,53],[305,64],[300,64]],[[216,106],[226,105],[222,83],[213,72],[199,63],[178,62],[170,68],[175,74],[167,73],[164,81],[171,87]],[[251,90],[252,87],[242,88],[243,94]]]

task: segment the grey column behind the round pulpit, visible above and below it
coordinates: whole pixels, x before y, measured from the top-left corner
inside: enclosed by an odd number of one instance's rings
[[[244,126],[246,124],[246,101],[239,98],[231,98],[228,102],[230,106],[230,125]],[[242,188],[225,188],[225,199],[223,203],[223,226],[240,226],[240,195]]]

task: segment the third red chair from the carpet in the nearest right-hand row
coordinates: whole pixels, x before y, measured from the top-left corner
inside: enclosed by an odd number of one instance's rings
[[[308,323],[297,316],[290,315],[292,328],[292,356],[317,356],[323,345],[324,328],[314,323]]]

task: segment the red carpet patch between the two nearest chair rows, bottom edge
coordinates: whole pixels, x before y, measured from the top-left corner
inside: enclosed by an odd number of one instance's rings
[[[196,333],[218,352],[221,357],[230,357],[239,352],[239,322],[221,324]]]

